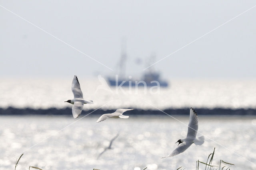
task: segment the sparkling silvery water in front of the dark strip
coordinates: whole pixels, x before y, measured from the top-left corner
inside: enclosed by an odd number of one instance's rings
[[[186,137],[189,116],[130,116],[96,123],[98,116],[0,116],[0,170],[38,166],[43,170],[194,170],[196,160],[206,162],[216,148],[213,164],[220,159],[231,169],[256,169],[256,116],[200,116],[202,146],[192,144],[171,158],[180,138]],[[128,112],[126,115],[129,115]],[[189,115],[189,114],[188,114]],[[77,121],[78,120],[78,121]],[[77,121],[77,122],[76,122]],[[182,123],[184,124],[182,124]],[[120,134],[97,159],[109,141]],[[201,136],[201,134],[198,134]],[[201,166],[204,169],[204,166]]]

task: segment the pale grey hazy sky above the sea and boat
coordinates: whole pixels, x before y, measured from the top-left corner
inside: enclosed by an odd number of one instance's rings
[[[0,5],[127,75],[158,61],[256,5],[238,1],[4,1]],[[0,77],[114,75],[102,64],[0,7]],[[164,78],[256,78],[256,7],[154,65]]]

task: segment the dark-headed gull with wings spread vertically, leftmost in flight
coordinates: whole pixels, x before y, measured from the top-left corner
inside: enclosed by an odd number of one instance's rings
[[[93,101],[84,100],[77,76],[74,76],[73,78],[71,90],[74,94],[74,99],[67,100],[65,102],[74,104],[74,106],[72,107],[72,114],[74,118],[78,118],[78,116],[82,112],[84,104],[93,104]]]

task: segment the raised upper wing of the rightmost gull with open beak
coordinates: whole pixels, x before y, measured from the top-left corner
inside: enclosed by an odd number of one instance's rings
[[[196,138],[197,130],[198,130],[198,116],[196,111],[193,108],[190,108],[187,138],[188,137]]]

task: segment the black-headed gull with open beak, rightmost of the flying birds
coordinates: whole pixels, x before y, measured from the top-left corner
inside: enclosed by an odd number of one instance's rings
[[[170,155],[163,158],[178,155],[184,152],[186,149],[188,149],[188,147],[193,143],[195,145],[202,145],[204,143],[204,136],[196,138],[197,130],[198,130],[198,116],[196,111],[193,108],[190,108],[187,137],[184,139],[179,139],[177,142],[179,142],[180,146],[178,144],[178,147]]]

